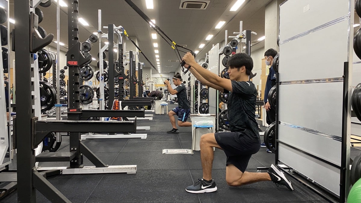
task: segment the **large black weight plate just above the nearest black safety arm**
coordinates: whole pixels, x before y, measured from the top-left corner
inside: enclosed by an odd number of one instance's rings
[[[56,103],[56,90],[47,82],[39,81],[40,83],[40,105],[42,112],[48,111]]]

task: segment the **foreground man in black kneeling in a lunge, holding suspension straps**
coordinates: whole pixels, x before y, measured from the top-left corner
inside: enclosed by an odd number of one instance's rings
[[[223,150],[227,156],[226,181],[230,186],[241,186],[258,181],[273,181],[276,185],[285,185],[293,190],[292,183],[273,164],[267,173],[246,172],[249,159],[260,149],[260,135],[256,122],[257,90],[249,81],[253,69],[251,56],[237,53],[228,60],[230,79],[202,68],[191,53],[186,53],[183,60],[186,68],[204,85],[221,92],[231,92],[227,107],[230,132],[207,133],[200,140],[203,178],[186,188],[190,193],[209,193],[217,190],[212,179],[213,147]],[[205,79],[206,78],[206,79]]]

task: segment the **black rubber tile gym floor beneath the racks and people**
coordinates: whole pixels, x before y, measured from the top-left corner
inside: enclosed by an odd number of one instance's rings
[[[169,105],[169,110],[175,104]],[[151,113],[151,112],[147,112]],[[188,121],[190,119],[188,118]],[[258,121],[261,124],[261,121]],[[190,149],[191,128],[180,127],[179,134],[167,134],[171,129],[167,115],[154,115],[153,120],[138,120],[138,126],[151,126],[147,139],[87,139],[88,146],[101,160],[109,165],[137,165],[136,174],[84,174],[59,175],[48,178],[71,202],[326,202],[320,196],[290,180],[294,191],[273,182],[257,182],[231,187],[225,177],[226,155],[216,149],[213,161],[213,179],[218,190],[213,193],[191,194],[185,188],[202,178],[200,151],[190,154],[162,154],[163,149]],[[264,130],[264,127],[261,127]],[[261,136],[262,138],[263,136]],[[69,137],[63,136],[60,151],[69,150]],[[325,147],[325,146],[320,146]],[[351,157],[361,151],[351,148]],[[274,154],[261,147],[249,161],[247,171],[256,172],[257,167],[270,167]],[[92,165],[84,156],[84,165]],[[42,167],[68,166],[68,162],[39,163]],[[16,169],[16,155],[10,169]],[[286,175],[286,177],[288,177]],[[1,186],[1,185],[0,185]],[[37,202],[50,202],[36,191]],[[17,202],[17,191],[2,202]]]

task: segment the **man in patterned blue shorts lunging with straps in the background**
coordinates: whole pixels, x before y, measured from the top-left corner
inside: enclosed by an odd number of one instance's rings
[[[186,85],[184,85],[184,83],[182,82],[182,76],[179,73],[173,76],[173,84],[177,86],[177,88],[173,90],[168,80],[166,80],[164,83],[165,86],[168,88],[169,93],[171,95],[177,94],[178,99],[178,107],[175,107],[168,113],[169,120],[173,126],[173,129],[167,131],[167,133],[179,133],[177,126],[175,125],[174,115],[178,116],[178,126],[192,126],[192,123],[187,121],[187,118],[191,112],[191,107],[187,98]]]

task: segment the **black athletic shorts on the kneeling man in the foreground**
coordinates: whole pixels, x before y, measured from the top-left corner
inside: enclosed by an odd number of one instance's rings
[[[250,138],[243,132],[214,133],[214,137],[227,156],[226,165],[233,164],[242,173],[246,170],[252,154],[256,154],[261,147],[260,142],[249,141]]]

